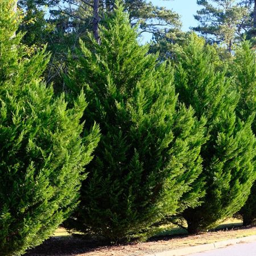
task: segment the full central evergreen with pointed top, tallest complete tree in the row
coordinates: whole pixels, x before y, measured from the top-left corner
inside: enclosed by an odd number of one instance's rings
[[[105,24],[101,43],[92,39],[92,52],[81,43],[69,69],[70,88],[84,85],[90,94],[85,116],[99,123],[102,137],[67,225],[117,242],[142,237],[166,214],[199,204],[204,127],[191,108],[177,110],[171,67],[139,45],[122,6]]]

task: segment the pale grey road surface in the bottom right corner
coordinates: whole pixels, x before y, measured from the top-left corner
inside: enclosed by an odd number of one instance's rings
[[[189,254],[189,256],[256,256],[256,242],[240,243],[202,253]]]

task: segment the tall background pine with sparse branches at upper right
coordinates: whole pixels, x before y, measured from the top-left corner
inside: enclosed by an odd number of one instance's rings
[[[229,52],[234,42],[240,40],[252,27],[251,3],[236,0],[197,0],[203,8],[197,11],[195,19],[200,32],[208,42],[225,44]]]

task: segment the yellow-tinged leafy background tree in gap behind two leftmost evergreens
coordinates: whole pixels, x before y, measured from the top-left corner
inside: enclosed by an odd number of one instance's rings
[[[23,20],[19,31],[24,32],[22,43],[28,46],[28,54],[32,54],[47,44],[47,50],[52,52],[49,65],[44,71],[47,83],[54,81],[55,89],[64,90],[61,73],[65,72],[67,52],[73,49],[77,35],[69,30],[67,17],[59,15],[53,18],[49,10],[54,8],[55,2],[47,0],[19,0],[18,7],[22,11]]]

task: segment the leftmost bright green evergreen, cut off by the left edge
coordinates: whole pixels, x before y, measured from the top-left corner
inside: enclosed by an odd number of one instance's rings
[[[48,57],[28,58],[15,0],[0,4],[0,255],[39,245],[77,205],[98,128],[82,139],[83,94],[67,108],[41,81]]]

